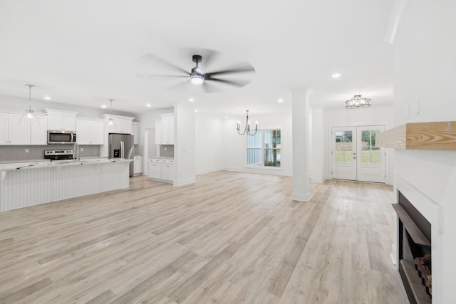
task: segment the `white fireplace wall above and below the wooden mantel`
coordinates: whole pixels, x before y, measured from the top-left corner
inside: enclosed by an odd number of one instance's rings
[[[395,125],[456,120],[455,12],[456,1],[410,1],[393,45]],[[453,303],[456,151],[396,150],[395,174],[432,224],[432,302]]]

